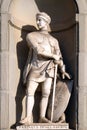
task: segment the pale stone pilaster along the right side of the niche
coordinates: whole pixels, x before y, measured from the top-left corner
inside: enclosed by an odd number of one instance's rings
[[[84,5],[86,6],[86,5]],[[87,129],[87,15],[79,14],[78,129]]]

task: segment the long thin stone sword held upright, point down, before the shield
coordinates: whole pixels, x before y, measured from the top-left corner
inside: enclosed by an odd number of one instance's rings
[[[53,96],[52,96],[52,110],[51,110],[51,121],[53,121],[53,111],[54,111],[54,101],[55,101],[55,90],[56,90],[56,79],[57,79],[57,67],[58,67],[58,65],[55,64],[55,69],[54,69],[54,82],[53,82]]]

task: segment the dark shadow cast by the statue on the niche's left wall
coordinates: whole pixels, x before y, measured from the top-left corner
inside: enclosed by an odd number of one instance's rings
[[[16,123],[11,126],[11,129],[14,129],[19,121],[21,120],[22,112],[23,112],[23,104],[22,101],[26,95],[26,85],[23,84],[23,70],[27,61],[29,48],[26,42],[26,35],[32,31],[35,31],[36,28],[34,26],[25,25],[21,29],[21,38],[22,41],[19,41],[16,46],[17,51],[17,60],[18,60],[18,68],[20,69],[20,78],[17,86],[17,92],[15,97],[16,102]]]

